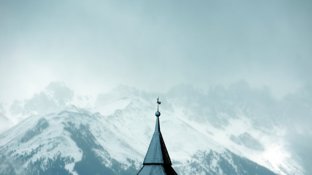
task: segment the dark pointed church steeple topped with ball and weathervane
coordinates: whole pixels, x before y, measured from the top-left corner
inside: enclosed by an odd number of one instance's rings
[[[149,144],[149,149],[145,155],[143,167],[140,169],[137,175],[178,175],[171,167],[172,163],[165,142],[163,141],[163,136],[160,132],[160,112],[158,111],[158,106],[161,104],[161,102],[157,99],[157,103],[157,112],[155,113],[155,131],[151,143]]]

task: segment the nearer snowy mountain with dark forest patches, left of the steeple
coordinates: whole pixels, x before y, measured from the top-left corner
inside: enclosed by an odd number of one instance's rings
[[[42,166],[45,167],[40,170],[41,173],[47,173],[50,171],[53,172],[53,170],[51,170],[51,166],[52,165],[56,166],[58,164],[55,162],[62,162],[62,161],[63,163],[59,163],[62,165],[58,165],[57,167],[53,167],[53,168],[58,169],[60,172],[63,172],[63,174],[70,174],[70,173],[72,174],[93,174],[94,173],[95,174],[95,173],[99,173],[100,170],[103,171],[105,169],[106,169],[105,170],[106,173],[108,174],[110,173],[111,174],[123,174],[120,172],[124,172],[124,174],[132,172],[132,174],[134,174],[135,171],[139,169],[139,166],[141,166],[140,164],[143,161],[144,154],[140,154],[139,156],[137,156],[139,158],[142,158],[141,160],[139,159],[133,160],[129,158],[134,155],[134,152],[131,151],[131,156],[128,155],[129,157],[127,157],[127,160],[122,163],[111,158],[111,155],[107,151],[107,148],[103,147],[102,146],[103,144],[100,144],[100,142],[98,141],[99,137],[94,136],[94,133],[96,132],[92,130],[92,128],[96,128],[96,127],[90,126],[91,123],[93,123],[93,125],[95,123],[91,121],[93,120],[98,121],[97,117],[100,117],[100,116],[94,115],[94,114],[90,115],[90,113],[81,113],[82,111],[84,112],[86,111],[83,109],[77,110],[77,108],[73,108],[74,107],[73,105],[71,105],[70,107],[71,107],[70,110],[62,110],[59,113],[48,114],[46,116],[37,115],[37,116],[32,116],[32,117],[25,119],[24,120],[25,124],[27,123],[29,124],[34,123],[34,124],[28,125],[29,128],[26,131],[25,130],[21,131],[19,127],[10,129],[12,133],[16,133],[12,130],[18,130],[19,132],[17,132],[18,133],[17,136],[20,136],[20,137],[19,138],[15,137],[12,140],[7,140],[7,142],[4,141],[6,136],[3,137],[3,134],[2,134],[1,143],[0,143],[1,152],[13,155],[12,158],[15,160],[20,159],[17,162],[24,162],[26,165],[25,164],[21,165],[23,167],[25,166],[27,167],[27,168],[24,168],[24,171],[25,171],[24,173],[34,173],[36,169],[32,169],[32,168],[33,167],[38,168],[39,166],[38,164],[40,164],[41,167]],[[77,120],[81,120],[82,118],[84,120],[87,118],[88,122],[85,123],[84,121],[85,124],[82,124],[80,123],[81,121],[77,121]],[[75,122],[72,122],[73,120]],[[56,121],[59,125],[64,125],[63,130],[61,132],[60,132],[60,129],[49,130],[51,127],[52,128],[56,127],[54,126],[56,124],[55,123]],[[24,123],[21,123],[21,124],[24,124]],[[101,125],[101,127],[102,127],[102,130],[106,130],[104,126]],[[55,132],[59,132],[59,133],[57,134]],[[35,134],[32,134],[32,133],[35,133]],[[43,139],[44,137],[46,138]],[[81,138],[83,139],[81,140]],[[117,142],[119,142],[119,144],[117,145],[123,145],[122,144],[124,143],[123,140],[119,140],[118,137],[116,136],[112,136],[112,138],[117,138]],[[46,142],[43,140],[46,140]],[[17,147],[19,148],[19,150],[16,150],[16,149],[10,150],[6,148],[6,147],[12,148],[14,147],[14,145],[15,146],[18,145]],[[24,147],[19,146],[19,145],[24,145]],[[64,145],[64,146],[61,146],[61,145]],[[125,145],[122,148],[129,149],[131,148],[131,146],[125,143]],[[27,151],[30,149],[31,151]],[[71,153],[69,154],[69,150],[66,151],[66,149],[70,149]],[[47,152],[48,154],[45,154],[42,156],[41,155],[43,154],[42,152]],[[101,155],[100,158],[97,155]],[[2,159],[3,157],[5,157],[4,154],[2,154]],[[38,157],[40,159],[38,159]],[[133,157],[135,158],[135,156]],[[95,161],[95,162],[98,162],[97,167],[98,168],[100,167],[98,171],[85,172],[83,169],[78,168],[82,166],[81,163],[85,161],[88,162],[90,160],[91,161],[98,160],[98,161]],[[6,162],[6,161],[7,159],[4,158],[3,162]],[[52,163],[51,165],[49,165],[49,163],[45,164],[44,163],[45,161],[52,162]],[[125,164],[127,161],[129,162],[128,165]],[[3,164],[1,164],[1,166],[3,166]],[[120,167],[116,168],[116,166],[117,167],[120,166]],[[126,168],[123,169],[121,168],[122,166],[123,168],[125,167]],[[112,167],[115,167],[115,171],[114,171],[114,168]],[[90,169],[90,167],[88,166],[85,166],[85,168]],[[32,169],[33,171],[31,171],[30,169]],[[9,170],[12,171],[12,169],[9,169]],[[6,173],[7,172],[5,171],[4,174]]]

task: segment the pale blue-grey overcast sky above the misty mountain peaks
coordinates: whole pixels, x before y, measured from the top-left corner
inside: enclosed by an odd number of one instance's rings
[[[79,94],[312,80],[312,1],[0,1],[0,102],[51,81]]]

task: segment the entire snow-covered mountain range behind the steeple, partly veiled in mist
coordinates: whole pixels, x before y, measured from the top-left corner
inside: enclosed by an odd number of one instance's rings
[[[287,137],[295,128],[280,110],[290,97],[276,101],[266,89],[237,82],[207,93],[191,85],[166,94],[119,86],[94,100],[52,84],[34,95],[33,106],[20,103],[24,116],[11,105],[20,122],[0,135],[0,174],[136,174],[154,131],[158,95],[161,131],[178,174],[305,174]],[[300,122],[292,121],[310,138]]]

